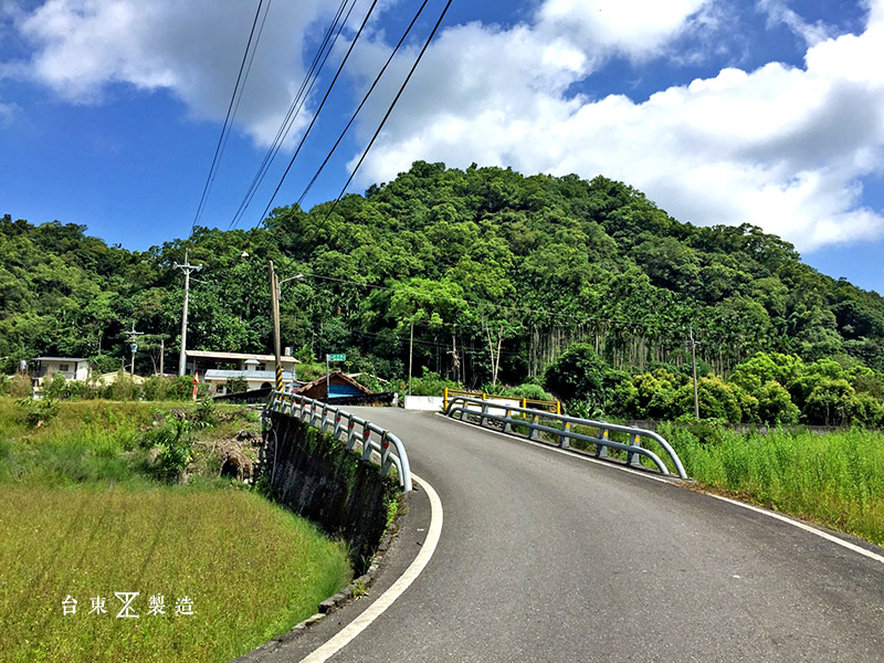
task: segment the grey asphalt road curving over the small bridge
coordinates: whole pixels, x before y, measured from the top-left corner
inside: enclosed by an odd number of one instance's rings
[[[423,573],[332,661],[884,661],[880,561],[433,414],[351,410],[403,440],[444,527]],[[266,660],[297,661],[311,638]]]

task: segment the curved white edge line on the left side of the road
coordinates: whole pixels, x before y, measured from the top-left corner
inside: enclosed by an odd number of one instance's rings
[[[427,538],[423,541],[421,551],[418,552],[418,557],[415,557],[414,561],[412,561],[411,565],[406,569],[406,572],[402,573],[399,579],[378,598],[378,600],[371,603],[371,606],[365,612],[362,612],[362,614],[352,620],[349,624],[341,629],[337,635],[328,640],[320,648],[314,650],[312,654],[302,659],[301,663],[323,663],[347,646],[354,638],[365,631],[371,624],[371,622],[383,614],[387,608],[392,606],[393,602],[400,596],[402,596],[402,593],[411,586],[411,583],[414,582],[418,576],[421,575],[421,571],[423,571],[423,569],[430,562],[430,559],[433,557],[433,552],[435,552],[435,548],[439,545],[439,538],[442,535],[442,501],[433,490],[433,486],[431,486],[429,483],[415,476],[414,474],[411,475],[411,478],[423,486],[423,490],[427,491],[427,495],[430,497],[430,507],[432,513],[430,527],[427,530]]]

